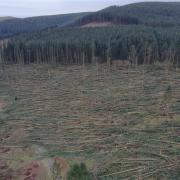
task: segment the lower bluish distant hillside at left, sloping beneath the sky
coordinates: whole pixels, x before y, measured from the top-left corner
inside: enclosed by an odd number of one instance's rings
[[[30,18],[16,18],[0,22],[0,38],[20,33],[40,31],[50,27],[63,27],[73,23],[88,13],[75,13],[54,16],[39,16]]]

